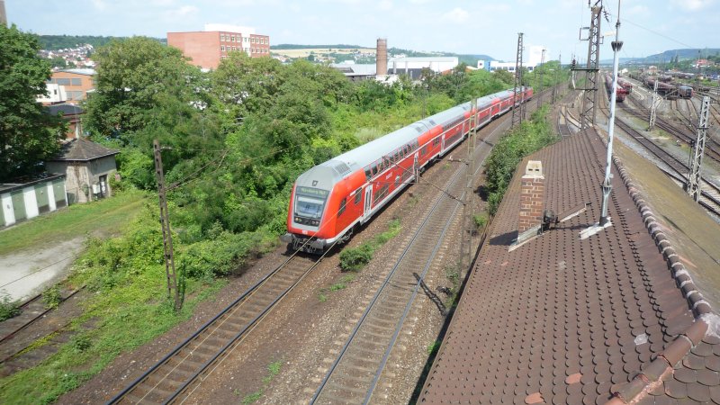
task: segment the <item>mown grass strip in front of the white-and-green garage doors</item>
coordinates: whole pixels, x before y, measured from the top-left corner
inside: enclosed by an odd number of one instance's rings
[[[24,221],[0,232],[0,255],[100,231],[115,233],[140,211],[148,193],[129,190],[112,198],[67,208]]]

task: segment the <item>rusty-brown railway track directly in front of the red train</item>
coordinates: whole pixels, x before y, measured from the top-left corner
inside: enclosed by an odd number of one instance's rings
[[[182,402],[324,256],[288,258],[108,403]]]

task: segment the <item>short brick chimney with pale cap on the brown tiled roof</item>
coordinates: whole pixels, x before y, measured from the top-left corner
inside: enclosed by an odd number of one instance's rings
[[[523,175],[520,184],[518,235],[522,235],[527,229],[540,225],[543,221],[543,203],[545,200],[543,163],[539,160],[527,162],[525,175]]]

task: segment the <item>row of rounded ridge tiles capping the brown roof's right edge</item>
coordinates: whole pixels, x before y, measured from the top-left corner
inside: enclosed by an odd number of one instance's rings
[[[600,137],[600,139],[607,146],[607,139],[603,137]],[[660,223],[655,218],[649,204],[645,202],[643,193],[635,186],[635,182],[627,172],[625,165],[616,155],[613,155],[612,161],[623,184],[626,185],[627,192],[643,217],[645,228],[650,232],[655,245],[660,249],[662,257],[670,267],[672,278],[688,301],[695,318],[695,322],[688,329],[685,329],[672,340],[670,345],[665,347],[653,361],[644,365],[629,383],[616,384],[611,387],[612,398],[606,402],[606,405],[620,405],[642,401],[659,383],[671,376],[673,367],[685,356],[688,356],[690,350],[697,346],[703,338],[708,334],[717,335],[716,325],[720,317],[716,315],[710,303],[698,291],[688,269],[680,261],[680,256],[675,247],[672,246],[670,240],[662,232]]]

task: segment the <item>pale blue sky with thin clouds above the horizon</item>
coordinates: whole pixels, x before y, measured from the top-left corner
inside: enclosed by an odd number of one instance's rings
[[[595,3],[596,0],[592,0]],[[621,0],[621,58],[668,49],[720,48],[720,0]],[[612,58],[617,0],[604,0],[609,23],[600,59]],[[8,23],[37,34],[146,35],[202,31],[206,23],[254,27],[271,45],[354,44],[486,54],[514,61],[518,32],[527,52],[547,49],[587,58],[579,40],[590,25],[588,0],[5,0]]]

